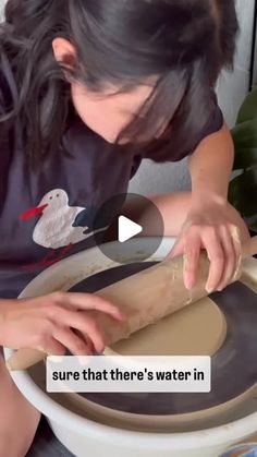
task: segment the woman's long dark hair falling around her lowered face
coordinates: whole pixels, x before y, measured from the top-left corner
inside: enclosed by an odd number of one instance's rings
[[[65,72],[90,89],[119,91],[155,79],[155,89],[122,135],[154,139],[159,122],[169,130],[152,149],[183,143],[210,121],[212,88],[233,64],[237,20],[234,0],[9,0],[0,25],[1,84],[9,101],[0,122],[22,125],[34,164],[54,154],[69,116]],[[64,37],[76,50],[72,70],[54,60],[52,40]],[[4,94],[3,94],[4,92]]]

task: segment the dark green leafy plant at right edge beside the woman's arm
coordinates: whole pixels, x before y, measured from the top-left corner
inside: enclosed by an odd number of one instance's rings
[[[229,201],[257,233],[257,86],[247,95],[231,131],[235,145]]]

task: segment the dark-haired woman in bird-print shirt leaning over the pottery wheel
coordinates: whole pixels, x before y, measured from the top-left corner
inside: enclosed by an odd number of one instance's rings
[[[236,32],[233,0],[8,1],[0,27],[0,345],[90,352],[75,329],[103,348],[87,310],[122,320],[111,303],[90,294],[16,296],[44,268],[91,245],[96,209],[126,192],[145,157],[189,157],[192,192],[152,197],[166,234],[178,237],[171,255],[185,256],[185,286],[195,284],[200,249],[210,258],[208,292],[230,281],[248,233],[228,204],[233,145],[213,87],[233,62]],[[85,218],[71,225],[74,207]],[[151,217],[147,207],[137,216]],[[2,361],[0,375],[0,455],[24,455],[38,413]]]

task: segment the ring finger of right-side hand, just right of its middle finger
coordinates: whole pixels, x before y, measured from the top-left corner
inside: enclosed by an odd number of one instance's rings
[[[232,280],[236,269],[236,253],[233,244],[231,231],[228,227],[220,228],[220,241],[224,252],[224,269],[218,290],[223,290]]]

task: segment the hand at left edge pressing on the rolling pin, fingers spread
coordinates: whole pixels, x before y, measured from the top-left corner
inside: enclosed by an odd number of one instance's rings
[[[124,321],[117,306],[90,293],[53,292],[49,296],[0,300],[0,346],[35,348],[52,356],[69,349],[86,356],[105,349],[103,335],[89,310]]]

